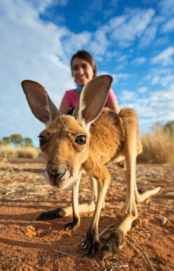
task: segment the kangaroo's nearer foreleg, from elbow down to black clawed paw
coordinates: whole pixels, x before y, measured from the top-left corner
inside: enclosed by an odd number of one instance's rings
[[[95,172],[96,170],[97,174]],[[98,221],[105,193],[108,188],[108,183],[111,178],[108,170],[102,164],[98,166],[95,164],[94,174],[98,182],[98,191],[99,191],[97,203],[93,218],[86,233],[86,239],[82,244],[79,245],[83,246],[81,250],[86,250],[82,257],[88,255],[91,252],[91,258],[93,257],[94,253],[99,250]]]

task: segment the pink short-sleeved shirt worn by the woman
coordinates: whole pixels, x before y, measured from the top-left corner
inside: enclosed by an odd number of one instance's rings
[[[69,104],[69,107],[73,108],[76,106],[78,98],[79,98],[79,95],[77,94],[77,91],[73,89],[73,90],[67,90],[62,100],[66,102],[67,104]],[[114,90],[110,88],[105,106],[108,107],[114,101],[116,101],[116,96],[115,96]]]

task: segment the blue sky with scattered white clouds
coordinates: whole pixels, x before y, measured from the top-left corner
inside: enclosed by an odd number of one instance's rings
[[[21,81],[43,84],[57,107],[75,86],[77,50],[111,74],[120,108],[134,108],[141,131],[174,120],[174,0],[0,0],[0,138],[43,130]]]

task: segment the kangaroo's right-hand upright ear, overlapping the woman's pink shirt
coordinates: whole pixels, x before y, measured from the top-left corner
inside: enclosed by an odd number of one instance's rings
[[[108,98],[113,78],[101,75],[89,81],[80,93],[73,115],[80,124],[90,124],[100,115]]]

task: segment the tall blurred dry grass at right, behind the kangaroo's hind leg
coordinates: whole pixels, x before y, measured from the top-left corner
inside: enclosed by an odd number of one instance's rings
[[[142,136],[142,145],[143,153],[138,156],[138,163],[174,163],[174,139],[170,129],[154,125],[151,133]]]

